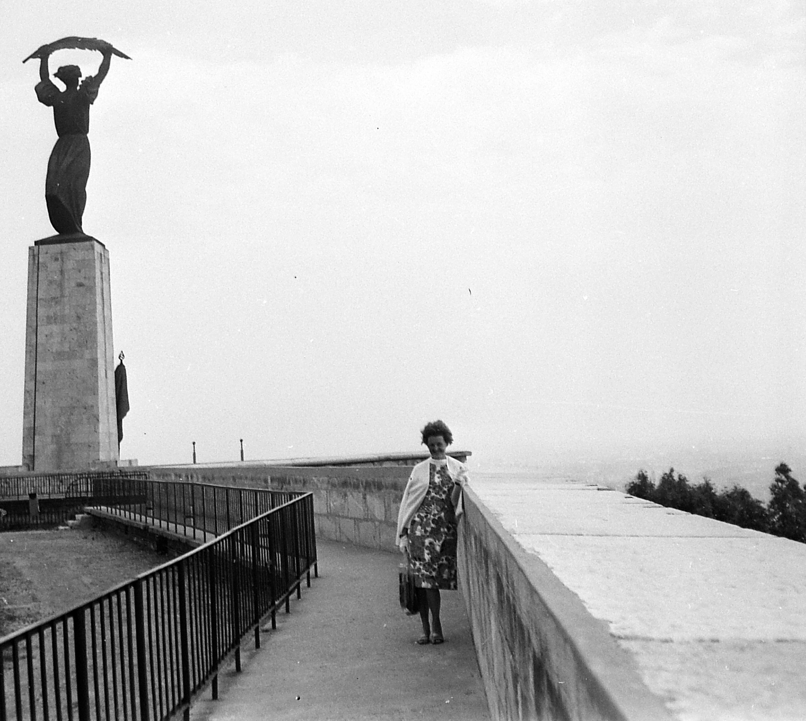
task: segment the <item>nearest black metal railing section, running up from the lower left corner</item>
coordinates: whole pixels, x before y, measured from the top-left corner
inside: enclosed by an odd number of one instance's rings
[[[268,493],[264,491],[263,493]],[[218,498],[221,501],[222,498]],[[247,499],[244,498],[244,502]],[[205,517],[207,519],[207,517]],[[0,639],[0,721],[160,721],[317,572],[313,494],[226,531],[92,601]]]

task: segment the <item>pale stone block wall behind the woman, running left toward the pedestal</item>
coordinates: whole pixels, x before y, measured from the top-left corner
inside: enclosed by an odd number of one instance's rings
[[[230,465],[141,467],[160,481],[312,491],[318,537],[395,550],[397,511],[411,469],[403,465],[316,468]]]

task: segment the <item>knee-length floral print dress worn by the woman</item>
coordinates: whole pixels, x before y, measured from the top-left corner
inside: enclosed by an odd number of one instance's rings
[[[409,563],[419,588],[456,590],[456,513],[446,463],[432,461],[426,497],[409,523]]]

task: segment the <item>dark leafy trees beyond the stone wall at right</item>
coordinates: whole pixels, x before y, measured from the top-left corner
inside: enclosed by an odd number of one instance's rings
[[[741,486],[717,492],[708,477],[695,486],[682,473],[675,478],[673,468],[663,473],[657,486],[639,470],[626,491],[661,506],[806,543],[806,484],[800,486],[785,463],[775,468],[766,506]]]

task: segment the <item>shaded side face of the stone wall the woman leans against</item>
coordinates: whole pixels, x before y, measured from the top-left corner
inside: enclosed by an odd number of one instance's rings
[[[459,582],[492,719],[671,719],[635,662],[467,489]]]

